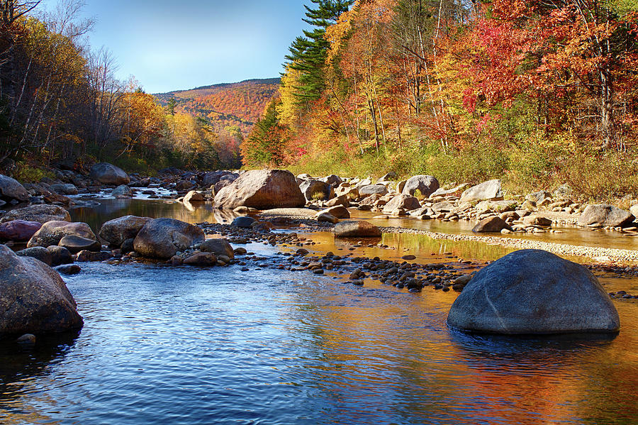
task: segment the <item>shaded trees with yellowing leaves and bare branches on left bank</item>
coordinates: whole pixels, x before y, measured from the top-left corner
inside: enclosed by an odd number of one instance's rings
[[[159,105],[116,60],[91,50],[82,1],[50,12],[40,1],[0,1],[0,172],[38,180],[47,167],[108,160],[129,171],[238,167],[238,127],[218,131]]]

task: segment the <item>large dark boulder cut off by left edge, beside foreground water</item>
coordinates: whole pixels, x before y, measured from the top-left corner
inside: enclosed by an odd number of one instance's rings
[[[83,324],[55,270],[0,245],[0,336],[63,332]]]

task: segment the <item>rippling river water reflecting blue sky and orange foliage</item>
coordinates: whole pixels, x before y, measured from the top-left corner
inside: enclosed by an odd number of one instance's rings
[[[94,228],[125,214],[213,221],[206,206],[99,202],[72,211],[74,219]],[[347,249],[327,233],[310,238],[320,252]],[[360,250],[386,258],[409,250],[422,262],[509,252],[413,235],[386,235],[384,243],[396,249]],[[285,249],[246,248],[264,258]],[[635,302],[614,302],[622,324],[615,338],[471,336],[445,324],[454,292],[357,287],[267,267],[81,265],[65,280],[84,316],[82,332],[41,338],[33,348],[2,342],[1,424],[635,424],[638,417]]]

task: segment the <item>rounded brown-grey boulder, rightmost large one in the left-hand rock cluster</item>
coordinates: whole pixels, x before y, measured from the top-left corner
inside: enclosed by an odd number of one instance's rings
[[[201,228],[175,219],[154,219],[135,236],[135,252],[149,258],[171,258],[177,251],[202,243]]]

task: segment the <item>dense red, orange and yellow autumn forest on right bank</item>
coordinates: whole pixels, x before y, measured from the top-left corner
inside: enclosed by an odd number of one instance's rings
[[[638,193],[628,0],[312,0],[245,165]]]

